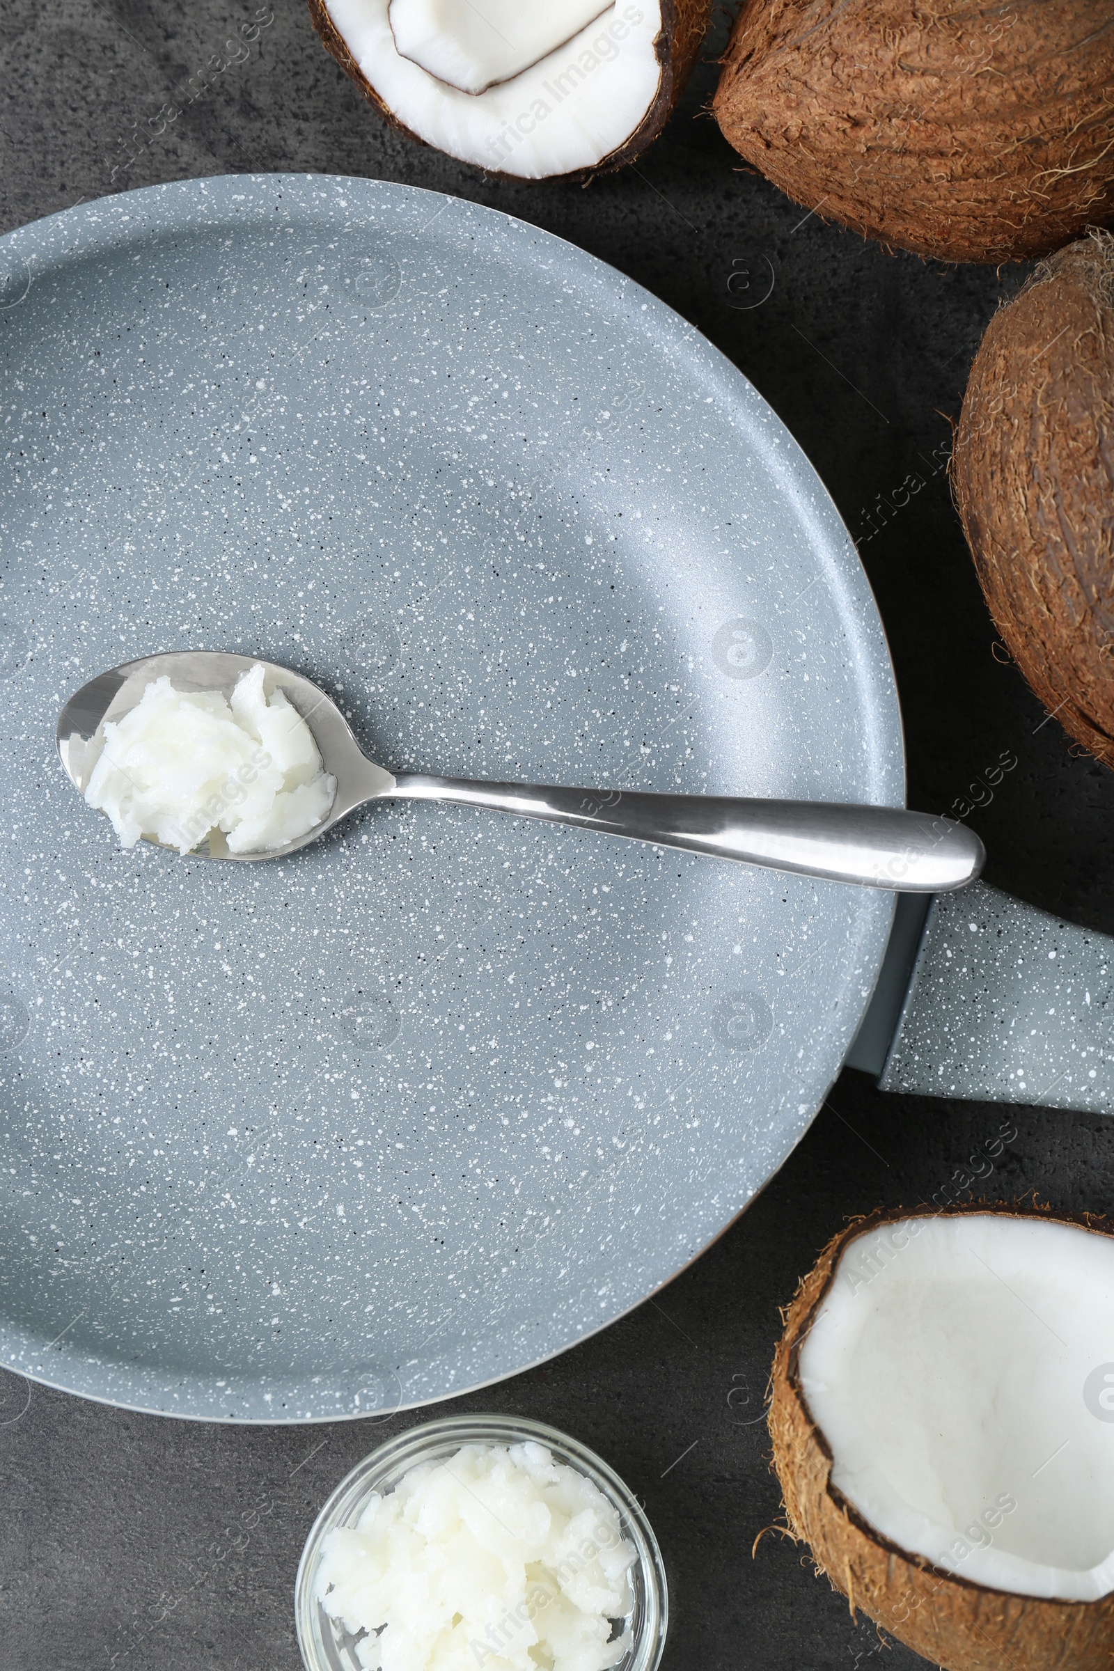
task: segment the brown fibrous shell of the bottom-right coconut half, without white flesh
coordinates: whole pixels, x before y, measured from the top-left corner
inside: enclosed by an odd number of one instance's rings
[[[1039,1211],[980,1203],[947,1213],[989,1210]],[[1114,1594],[1071,1602],[984,1589],[880,1537],[832,1486],[832,1454],[798,1382],[800,1347],[847,1247],[887,1223],[919,1216],[939,1216],[939,1210],[877,1211],[848,1225],[828,1242],[787,1312],[773,1359],[770,1437],[790,1532],[808,1544],[852,1613],[862,1609],[944,1671],[1111,1671]],[[1041,1211],[1041,1216],[1109,1233],[1102,1220],[1087,1213]]]

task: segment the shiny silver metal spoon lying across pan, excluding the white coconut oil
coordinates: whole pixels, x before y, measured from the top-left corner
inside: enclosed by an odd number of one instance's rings
[[[177,690],[222,690],[259,657],[187,650],[124,662],[70,697],[58,719],[58,754],[84,792],[92,770],[89,744],[104,720],[122,719],[145,687],[167,673]],[[336,777],[329,815],[306,836],[271,852],[229,852],[220,830],[195,849],[209,859],[281,859],[307,847],[367,800],[449,800],[519,819],[570,824],[681,847],[773,871],[795,871],[863,887],[909,894],[950,892],[972,882],[985,857],[979,837],[950,819],[892,807],[848,807],[815,800],[743,800],[727,795],[650,795],[620,789],[553,789],[543,784],[488,784],[461,777],[391,775],[361,750],[336,703],[301,673],[264,662],[264,690],[281,688],[309,724],[324,767]],[[92,752],[95,759],[95,750]],[[229,794],[229,804],[234,794]]]

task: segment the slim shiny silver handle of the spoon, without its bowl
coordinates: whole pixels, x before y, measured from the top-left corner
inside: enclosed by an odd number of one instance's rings
[[[571,824],[658,847],[738,859],[902,894],[945,894],[974,882],[985,857],[974,830],[895,807],[728,795],[646,795],[626,789],[553,789],[401,774],[387,797],[451,800],[518,819]]]

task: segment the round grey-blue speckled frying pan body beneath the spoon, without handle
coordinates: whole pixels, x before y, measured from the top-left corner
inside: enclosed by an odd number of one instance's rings
[[[636,284],[372,180],[23,227],[0,376],[2,1362],[322,1420],[600,1328],[797,1143],[890,896],[433,805],[274,866],[122,852],[55,717],[235,648],[389,767],[899,805],[810,465]]]

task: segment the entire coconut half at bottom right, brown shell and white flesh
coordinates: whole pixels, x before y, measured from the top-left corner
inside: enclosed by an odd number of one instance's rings
[[[790,1531],[945,1671],[1114,1664],[1114,1233],[875,1213],[802,1282],[770,1434]]]

